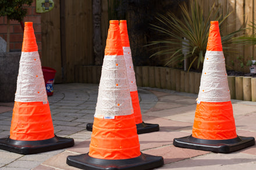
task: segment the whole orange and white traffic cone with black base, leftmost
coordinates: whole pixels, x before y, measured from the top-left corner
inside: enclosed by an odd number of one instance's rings
[[[0,149],[33,154],[73,145],[54,135],[33,23],[26,22],[10,136],[0,139]]]

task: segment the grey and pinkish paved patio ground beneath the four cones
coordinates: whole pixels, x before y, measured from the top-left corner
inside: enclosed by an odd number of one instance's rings
[[[73,147],[45,153],[22,155],[0,150],[0,169],[77,169],[66,164],[67,155],[89,150],[98,85],[56,84],[49,96],[55,134],[73,138]],[[162,155],[165,165],[157,169],[256,169],[256,147],[230,154],[182,149],[173,138],[191,134],[197,95],[157,88],[138,88],[143,121],[159,124],[160,131],[138,135],[143,153]],[[256,138],[256,102],[232,100],[237,135]],[[0,138],[9,135],[13,103],[0,103]]]

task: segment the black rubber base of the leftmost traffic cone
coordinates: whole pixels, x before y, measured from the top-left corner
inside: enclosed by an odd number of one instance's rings
[[[46,140],[13,140],[10,138],[0,139],[0,149],[11,151],[18,154],[35,154],[50,150],[63,149],[74,146],[74,139],[54,136]]]

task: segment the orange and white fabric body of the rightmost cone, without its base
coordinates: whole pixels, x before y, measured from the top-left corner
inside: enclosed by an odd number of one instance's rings
[[[209,29],[192,136],[212,140],[237,138],[218,21],[211,21]]]

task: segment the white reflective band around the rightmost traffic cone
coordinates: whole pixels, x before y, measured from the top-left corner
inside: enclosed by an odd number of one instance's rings
[[[223,52],[205,53],[198,100],[201,102],[229,102],[225,57]]]

